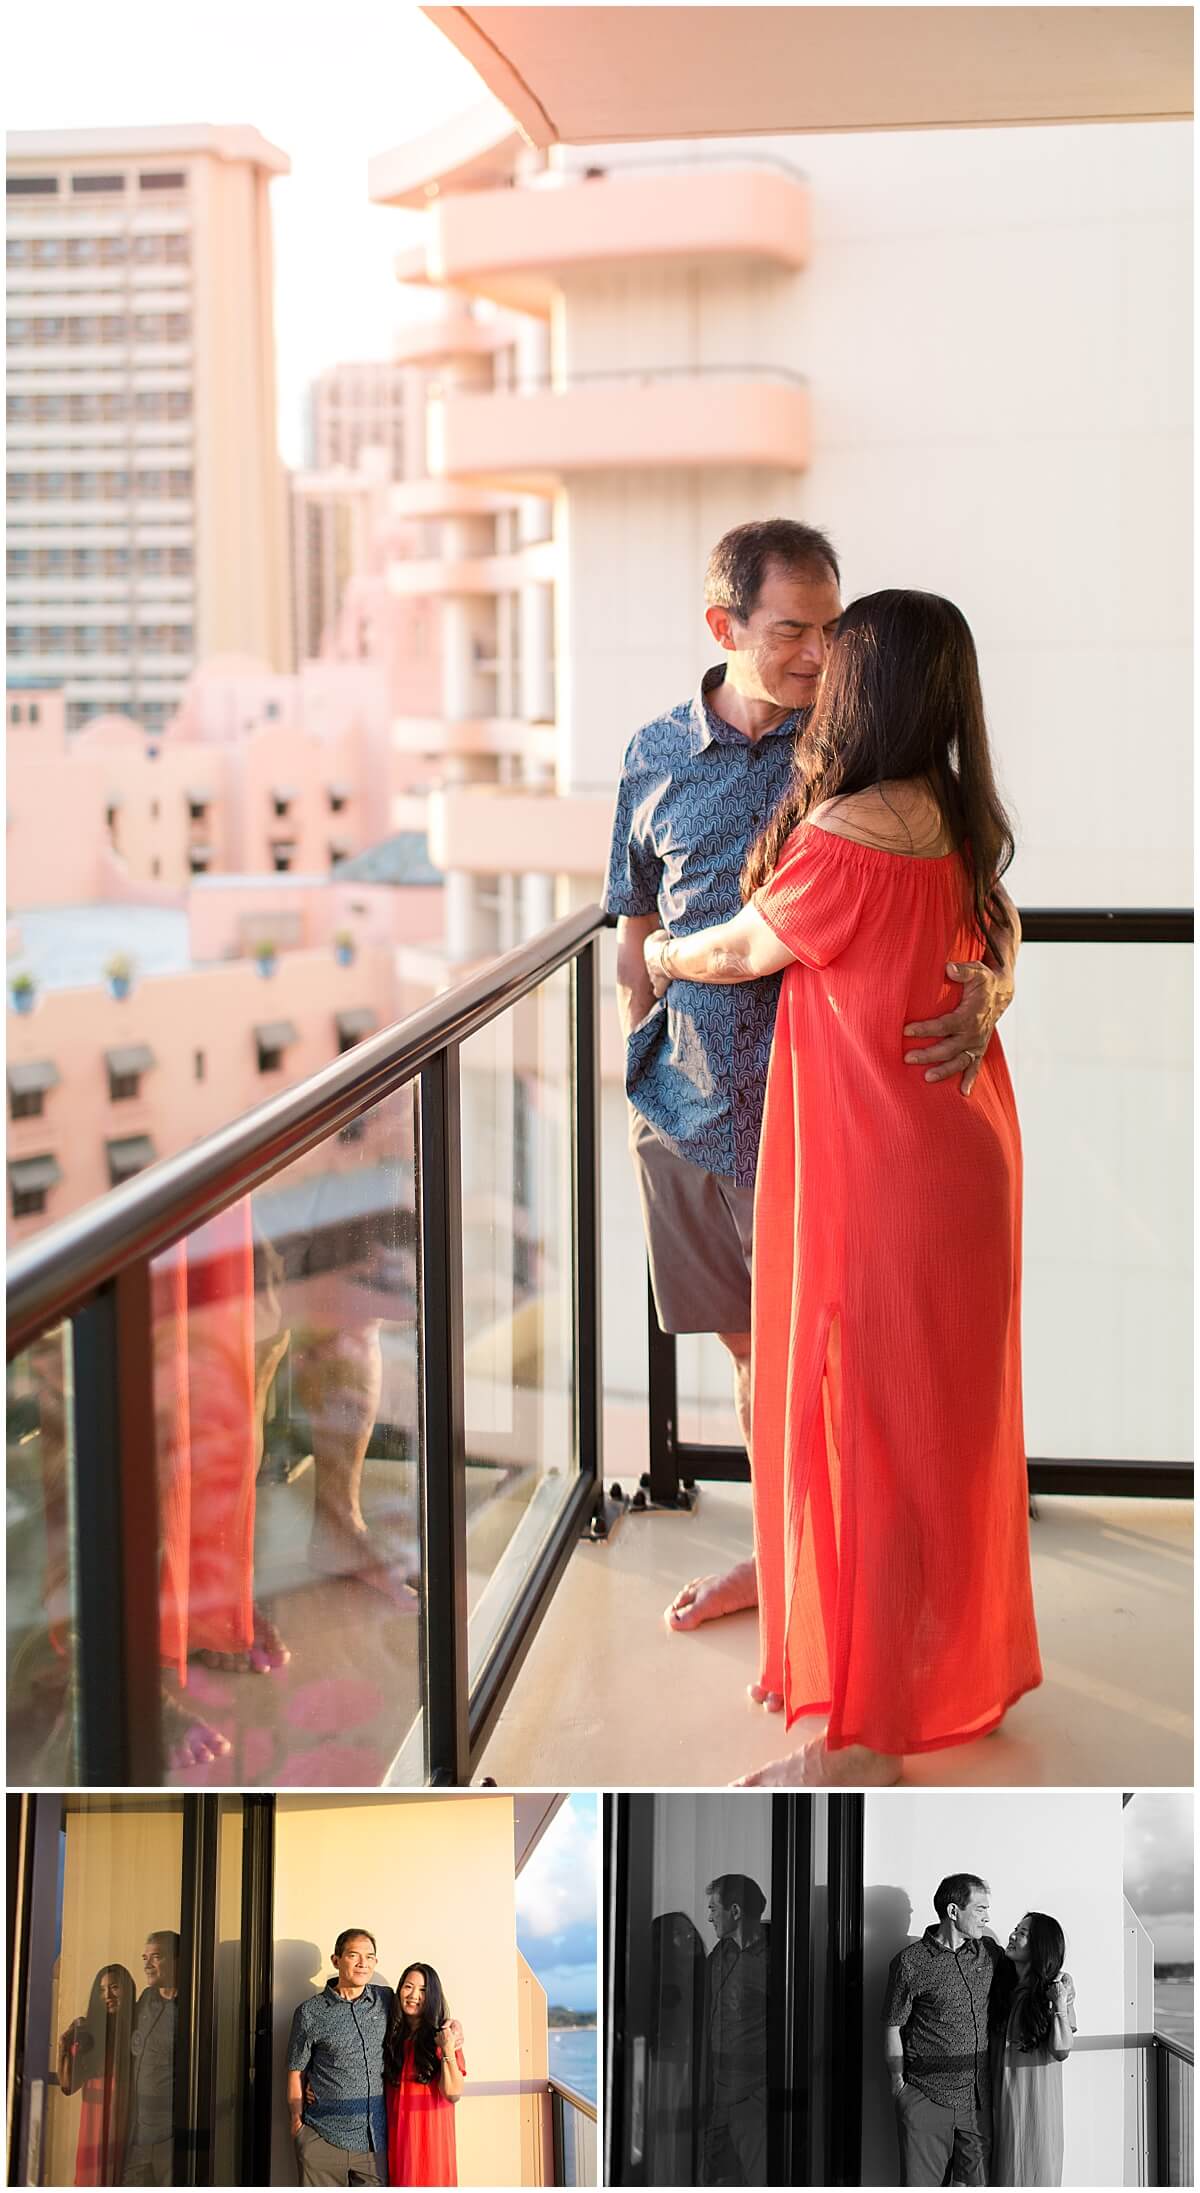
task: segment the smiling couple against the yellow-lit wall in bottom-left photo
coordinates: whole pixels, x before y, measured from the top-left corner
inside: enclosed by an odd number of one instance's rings
[[[454,2186],[454,2103],[467,2064],[432,1965],[375,1980],[366,1928],[344,1928],[333,1974],[287,2042],[287,2114],[303,2186]]]

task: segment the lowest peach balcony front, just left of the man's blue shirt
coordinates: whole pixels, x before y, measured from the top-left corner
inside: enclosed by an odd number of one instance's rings
[[[467,875],[603,875],[612,800],[505,785],[430,794],[430,860]]]

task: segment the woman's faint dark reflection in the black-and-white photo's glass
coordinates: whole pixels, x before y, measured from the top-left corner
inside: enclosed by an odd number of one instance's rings
[[[647,2182],[695,2184],[704,1943],[687,1912],[649,1921]]]

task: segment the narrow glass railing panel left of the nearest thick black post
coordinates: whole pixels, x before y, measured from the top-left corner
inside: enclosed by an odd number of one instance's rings
[[[9,1364],[9,1783],[77,1776],[72,1351],[57,1325]]]

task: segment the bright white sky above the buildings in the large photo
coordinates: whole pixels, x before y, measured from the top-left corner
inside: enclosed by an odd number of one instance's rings
[[[366,202],[373,154],[487,94],[415,0],[61,0],[7,26],[9,129],[250,123],[292,160],[272,182],[279,439],[301,463],[303,393],[340,357],[388,357],[419,318],[393,257],[417,215]]]

